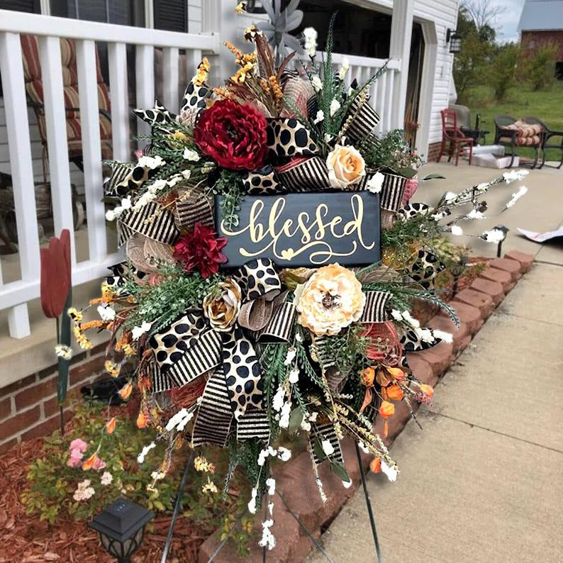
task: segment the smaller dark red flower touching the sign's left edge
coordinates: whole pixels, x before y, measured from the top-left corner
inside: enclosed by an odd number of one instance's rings
[[[197,271],[201,277],[216,274],[219,264],[227,262],[221,248],[227,244],[225,237],[216,237],[212,228],[196,223],[194,230],[182,236],[174,245],[174,258],[184,262],[185,272]]]

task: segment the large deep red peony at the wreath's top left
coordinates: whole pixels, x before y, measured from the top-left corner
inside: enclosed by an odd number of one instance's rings
[[[201,114],[194,140],[219,166],[253,170],[266,160],[266,126],[266,118],[253,106],[219,100]]]

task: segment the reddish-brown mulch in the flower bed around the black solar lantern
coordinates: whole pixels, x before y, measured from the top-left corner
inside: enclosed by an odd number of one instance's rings
[[[0,563],[111,563],[98,535],[85,522],[57,518],[54,525],[26,514],[21,494],[27,464],[37,457],[42,438],[19,444],[0,456]],[[147,528],[133,563],[158,563],[165,545],[169,515],[158,515]],[[183,516],[178,518],[169,563],[195,563],[208,534]]]

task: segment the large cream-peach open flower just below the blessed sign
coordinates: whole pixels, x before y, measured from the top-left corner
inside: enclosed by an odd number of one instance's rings
[[[317,336],[336,335],[362,316],[365,295],[354,272],[339,264],[319,268],[297,286],[294,303],[299,324]]]

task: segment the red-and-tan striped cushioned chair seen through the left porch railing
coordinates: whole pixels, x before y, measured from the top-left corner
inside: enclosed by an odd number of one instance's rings
[[[26,81],[28,99],[35,110],[39,135],[43,145],[43,176],[46,177],[47,131],[45,128],[45,102],[43,100],[43,80],[39,59],[38,40],[35,35],[21,35],[23,51],[23,73]],[[78,76],[74,41],[61,38],[62,89],[65,96],[67,120],[67,140],[69,162],[79,169],[82,165],[82,132],[80,128]],[[101,159],[111,159],[111,117],[108,87],[101,76],[98,54],[96,52],[96,82],[98,83],[98,106],[100,121]]]

